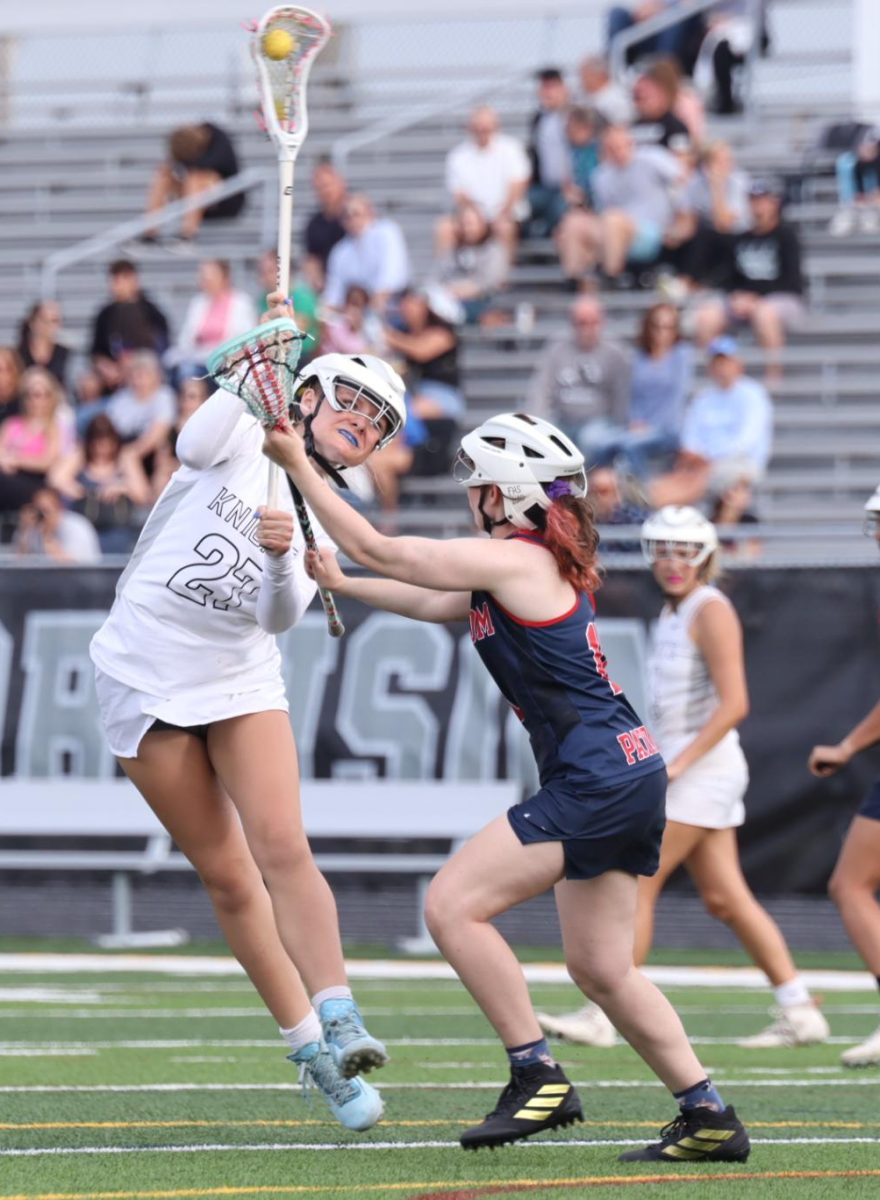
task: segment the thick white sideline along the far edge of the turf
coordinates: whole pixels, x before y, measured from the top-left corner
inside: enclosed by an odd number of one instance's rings
[[[351,979],[455,979],[453,968],[441,960],[352,959],[346,962]],[[527,962],[528,983],[570,983],[561,962]],[[0,973],[78,974],[148,972],[170,976],[243,974],[239,964],[227,956],[193,954],[0,954]],[[756,967],[645,967],[653,983],[666,988],[760,988],[767,979]],[[876,991],[876,979],[867,971],[802,971],[808,988],[819,991]]]

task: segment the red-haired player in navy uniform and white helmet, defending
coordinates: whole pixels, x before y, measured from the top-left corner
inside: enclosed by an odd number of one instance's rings
[[[541,1034],[526,980],[493,917],[556,888],[565,962],[680,1102],[660,1141],[629,1160],[743,1162],[748,1135],[692,1050],[669,1001],[633,965],[636,878],[657,870],[666,772],[651,734],[609,679],[594,624],[598,535],[583,456],[547,421],[484,422],[455,478],[483,539],[388,538],[311,467],[294,431],[267,452],[294,479],[333,540],[379,580],[346,577],[329,552],[316,580],[429,622],[469,620],[477,653],[522,720],[540,788],[465,845],[431,884],[426,920],[502,1039],[510,1081],[465,1148],[582,1118]]]

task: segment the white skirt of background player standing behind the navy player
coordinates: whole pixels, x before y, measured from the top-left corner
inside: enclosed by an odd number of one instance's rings
[[[666,820],[700,829],[734,829],[746,820],[748,785],[749,769],[738,739],[719,742],[669,785]]]

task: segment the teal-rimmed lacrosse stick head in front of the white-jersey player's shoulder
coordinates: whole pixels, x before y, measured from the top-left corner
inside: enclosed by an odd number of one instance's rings
[[[279,428],[293,404],[303,337],[289,317],[269,320],[218,346],[208,359],[208,373],[243,400],[263,428]]]

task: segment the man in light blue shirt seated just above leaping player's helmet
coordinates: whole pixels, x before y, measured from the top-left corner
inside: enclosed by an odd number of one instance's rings
[[[395,221],[377,218],[372,202],[349,196],[343,223],[346,235],[330,251],[323,302],[341,308],[348,289],[357,284],[370,293],[371,304],[384,313],[389,301],[409,283],[409,253]]]

